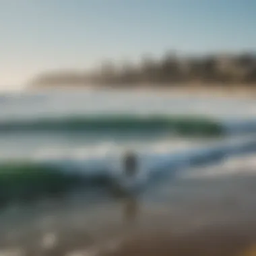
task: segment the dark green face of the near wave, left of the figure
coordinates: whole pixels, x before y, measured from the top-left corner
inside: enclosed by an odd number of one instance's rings
[[[59,197],[79,186],[102,185],[106,182],[102,174],[84,177],[43,164],[4,163],[0,164],[0,208],[11,201]]]

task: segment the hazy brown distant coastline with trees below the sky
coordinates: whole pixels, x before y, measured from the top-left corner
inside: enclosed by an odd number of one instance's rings
[[[184,56],[168,52],[160,59],[145,55],[139,63],[103,61],[90,71],[40,73],[28,82],[36,88],[115,88],[256,90],[256,54]]]

